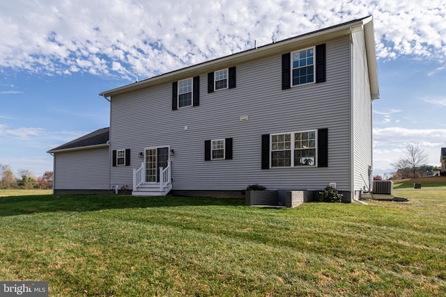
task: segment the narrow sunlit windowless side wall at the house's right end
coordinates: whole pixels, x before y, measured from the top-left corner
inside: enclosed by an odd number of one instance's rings
[[[372,164],[372,104],[364,31],[353,33],[353,188],[369,184]],[[364,183],[365,181],[365,183]]]

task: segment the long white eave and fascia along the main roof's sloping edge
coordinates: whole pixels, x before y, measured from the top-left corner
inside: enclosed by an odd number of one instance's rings
[[[215,60],[203,62],[197,65],[192,65],[190,67],[185,67],[180,70],[167,72],[157,77],[152,77],[151,79],[145,79],[144,81],[132,83],[127,86],[122,86],[112,90],[107,90],[105,92],[100,93],[99,95],[102,97],[112,97],[116,95],[130,93],[144,88],[149,88],[151,86],[157,86],[161,83],[167,83],[169,81],[178,81],[180,79],[185,79],[187,77],[194,77],[200,74],[205,74],[207,72],[213,72],[216,69],[236,66],[240,63],[256,60],[258,58],[263,58],[265,56],[270,56],[272,54],[283,54],[286,51],[293,51],[295,49],[298,49],[297,47],[303,48],[309,45],[314,45],[317,42],[325,42],[326,40],[338,38],[343,35],[348,35],[350,34],[350,29],[352,26],[363,25],[365,22],[370,22],[370,20],[371,17],[367,17],[357,22],[345,24],[344,26],[334,26],[331,29],[322,29],[321,31],[304,34],[301,35],[300,37],[289,38],[288,40],[282,40],[279,42],[273,42],[268,45],[263,45],[259,48],[248,49],[238,54],[232,54],[230,56],[216,58]]]

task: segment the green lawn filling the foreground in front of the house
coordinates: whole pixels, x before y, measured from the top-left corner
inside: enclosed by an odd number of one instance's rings
[[[446,190],[396,192],[410,203],[4,197],[0,279],[49,296],[444,296]]]

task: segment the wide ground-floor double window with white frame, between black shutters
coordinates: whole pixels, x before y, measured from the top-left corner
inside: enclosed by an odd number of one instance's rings
[[[316,131],[271,135],[271,167],[316,165]]]

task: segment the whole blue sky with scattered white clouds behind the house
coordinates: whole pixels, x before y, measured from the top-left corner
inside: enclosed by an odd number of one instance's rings
[[[446,0],[0,1],[0,163],[52,170],[47,150],[109,126],[102,91],[368,15],[375,173],[390,172],[409,142],[439,166]]]

